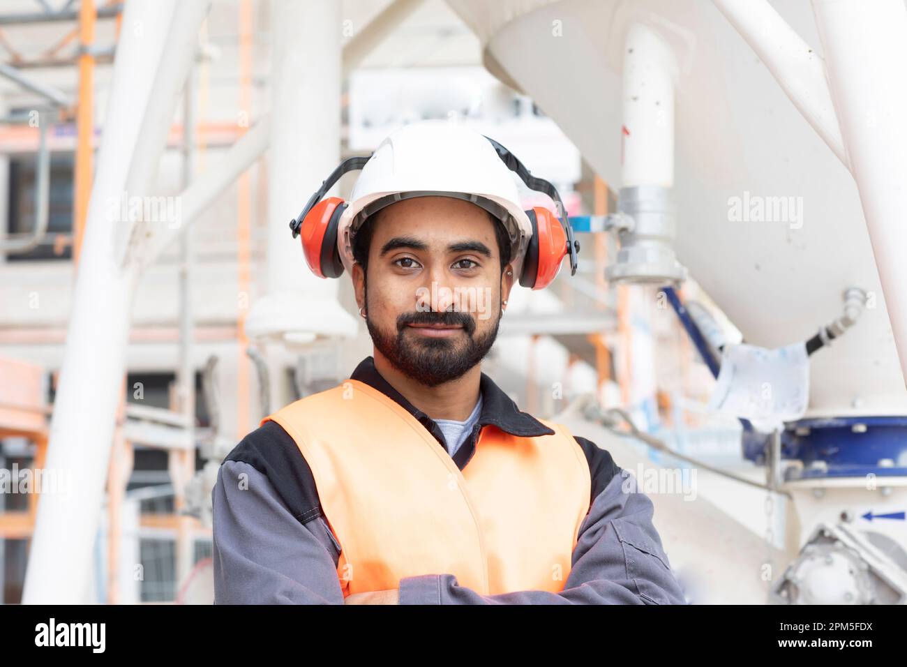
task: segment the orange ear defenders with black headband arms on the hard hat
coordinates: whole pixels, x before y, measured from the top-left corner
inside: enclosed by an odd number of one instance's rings
[[[520,284],[530,289],[542,289],[551,284],[561,261],[570,255],[571,276],[576,274],[579,265],[578,253],[580,241],[573,238],[573,229],[566,219],[566,208],[561,195],[549,181],[532,176],[525,165],[500,143],[490,137],[498,157],[509,170],[515,172],[530,190],[539,191],[551,197],[561,215],[555,216],[551,211],[534,206],[525,211],[532,224],[532,238],[526,248],[522,263]],[[302,236],[302,250],[306,256],[308,268],[319,278],[339,278],[344,272],[340,251],[337,249],[337,228],[343,211],[348,204],[339,197],[328,197],[322,201],[336,181],[346,172],[362,169],[372,156],[352,157],[341,162],[331,172],[321,187],[308,199],[306,207],[289,223],[293,238]]]

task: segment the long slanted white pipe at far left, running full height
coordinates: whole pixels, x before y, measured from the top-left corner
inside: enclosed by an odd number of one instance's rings
[[[45,464],[71,484],[66,491],[41,495],[24,603],[88,601],[134,285],[134,272],[121,270],[113,258],[114,231],[122,223],[110,215],[109,202],[125,185],[174,4],[132,0],[123,14],[128,28],[113,65]],[[135,25],[141,25],[141,37]]]

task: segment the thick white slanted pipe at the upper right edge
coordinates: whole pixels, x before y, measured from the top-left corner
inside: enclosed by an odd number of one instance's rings
[[[834,109],[907,378],[907,9],[813,0]]]

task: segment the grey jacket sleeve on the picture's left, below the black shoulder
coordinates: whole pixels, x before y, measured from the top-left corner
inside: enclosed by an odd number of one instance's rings
[[[215,604],[343,604],[327,525],[301,523],[268,476],[225,461],[211,492]]]

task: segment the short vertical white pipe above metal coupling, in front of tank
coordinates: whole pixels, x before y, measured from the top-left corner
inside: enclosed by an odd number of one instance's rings
[[[674,185],[676,75],[668,45],[645,25],[630,25],[623,62],[623,188]]]

